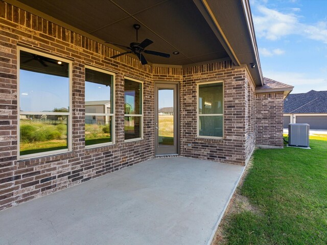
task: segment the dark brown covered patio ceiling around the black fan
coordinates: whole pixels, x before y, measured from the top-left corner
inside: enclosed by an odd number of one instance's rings
[[[247,0],[19,0],[7,1],[87,37],[129,46],[133,24],[141,24],[139,42],[170,58],[146,55],[152,64],[192,65],[230,58],[250,69],[257,85],[262,74]],[[46,16],[44,16],[46,15]],[[253,33],[252,33],[253,32]],[[93,38],[94,39],[94,38]],[[115,50],[123,52],[119,47]],[[172,55],[173,52],[179,55]]]

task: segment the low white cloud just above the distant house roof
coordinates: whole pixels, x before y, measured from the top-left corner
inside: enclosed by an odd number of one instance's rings
[[[327,90],[326,78],[312,78],[301,72],[264,71],[264,77],[294,86],[293,93]]]

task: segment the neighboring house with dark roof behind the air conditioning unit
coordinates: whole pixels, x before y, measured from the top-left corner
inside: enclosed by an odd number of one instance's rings
[[[284,128],[295,123],[327,130],[327,91],[290,94],[284,101]]]

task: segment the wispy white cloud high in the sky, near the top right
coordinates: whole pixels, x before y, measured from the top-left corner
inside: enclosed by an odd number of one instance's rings
[[[306,24],[295,13],[282,13],[262,5],[254,4],[260,15],[253,15],[255,34],[269,40],[277,40],[288,35],[301,35],[309,39],[327,43],[327,22]],[[297,9],[297,8],[295,8]],[[293,11],[298,11],[294,10]]]

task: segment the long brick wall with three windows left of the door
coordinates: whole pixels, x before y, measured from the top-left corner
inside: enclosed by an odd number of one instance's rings
[[[0,1],[0,209],[154,157],[152,67]],[[69,153],[17,160],[17,45],[73,61]],[[128,64],[128,65],[127,65]],[[115,76],[115,144],[85,149],[85,65]],[[124,142],[124,78],[144,81],[144,139]]]

